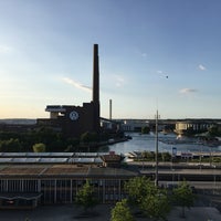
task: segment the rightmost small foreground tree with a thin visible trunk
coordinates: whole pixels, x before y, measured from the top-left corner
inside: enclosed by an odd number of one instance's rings
[[[182,208],[181,217],[185,218],[185,208],[190,208],[194,203],[194,196],[192,193],[192,189],[186,181],[182,181],[178,185],[177,188],[172,190],[172,193],[173,201],[176,202],[176,204]]]

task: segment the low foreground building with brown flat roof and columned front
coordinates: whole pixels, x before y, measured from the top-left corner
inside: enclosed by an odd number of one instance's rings
[[[101,203],[116,202],[125,198],[125,181],[136,176],[125,169],[85,165],[10,166],[0,173],[0,209],[73,203],[86,180]]]

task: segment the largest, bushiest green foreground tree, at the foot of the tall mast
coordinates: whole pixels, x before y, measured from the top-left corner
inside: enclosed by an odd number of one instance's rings
[[[136,177],[125,183],[129,202],[138,206],[149,218],[166,219],[170,211],[166,190],[159,189],[146,177]]]

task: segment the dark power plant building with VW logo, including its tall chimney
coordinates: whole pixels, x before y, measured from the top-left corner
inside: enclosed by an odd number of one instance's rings
[[[94,44],[92,102],[83,103],[83,106],[49,105],[45,110],[50,112],[50,118],[38,119],[38,125],[51,126],[66,137],[78,137],[85,131],[99,134],[98,44]]]

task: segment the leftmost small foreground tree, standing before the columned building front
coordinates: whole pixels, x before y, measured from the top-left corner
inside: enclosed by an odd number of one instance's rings
[[[87,209],[97,204],[97,200],[94,198],[94,189],[88,180],[86,180],[86,183],[77,191],[75,202],[80,207],[83,207],[85,212]]]

